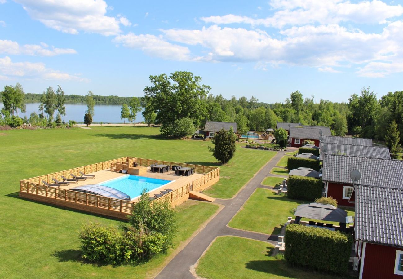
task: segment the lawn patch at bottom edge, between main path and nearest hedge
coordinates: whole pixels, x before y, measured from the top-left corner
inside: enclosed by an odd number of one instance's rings
[[[240,250],[241,249],[241,250]],[[196,268],[203,278],[336,278],[289,267],[270,256],[272,244],[241,237],[218,237]]]

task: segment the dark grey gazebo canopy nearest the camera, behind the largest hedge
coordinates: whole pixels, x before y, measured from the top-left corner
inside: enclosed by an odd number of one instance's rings
[[[347,211],[334,207],[330,204],[319,204],[311,202],[310,204],[301,204],[297,206],[294,214],[295,223],[298,224],[301,218],[309,218],[322,221],[333,221],[346,223]]]

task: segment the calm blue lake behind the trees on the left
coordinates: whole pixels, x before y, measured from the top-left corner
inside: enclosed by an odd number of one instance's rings
[[[25,114],[18,111],[18,116],[24,118],[24,115],[29,118],[31,112],[36,112],[39,114],[38,107],[39,103],[29,103],[25,104],[26,111]],[[65,104],[66,115],[62,116],[62,120],[69,123],[69,120],[74,120],[77,122],[84,121],[85,111],[87,110],[86,104]],[[3,103],[0,103],[0,108],[3,107]],[[92,117],[92,122],[104,122],[104,123],[123,123],[123,119],[120,119],[120,110],[122,110],[121,105],[103,105],[96,104],[94,106],[95,115]],[[45,113],[44,113],[45,114]],[[46,114],[45,114],[46,115]],[[56,118],[57,111],[54,113],[54,118]],[[144,121],[141,111],[137,113],[135,122]],[[126,119],[126,123],[128,120]]]

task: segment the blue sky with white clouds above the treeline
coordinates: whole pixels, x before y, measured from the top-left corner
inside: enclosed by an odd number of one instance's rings
[[[0,0],[0,88],[143,96],[191,71],[210,93],[335,102],[401,91],[403,2]]]

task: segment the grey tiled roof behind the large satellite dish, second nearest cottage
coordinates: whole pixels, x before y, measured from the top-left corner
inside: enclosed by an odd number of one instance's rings
[[[357,183],[378,187],[403,187],[403,161],[324,154],[322,180],[353,184],[351,171],[357,169]]]

